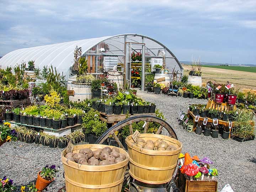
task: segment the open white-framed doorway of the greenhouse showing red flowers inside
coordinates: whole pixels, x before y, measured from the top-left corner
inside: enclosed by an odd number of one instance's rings
[[[145,82],[145,43],[126,42],[125,80],[130,88],[144,91]]]

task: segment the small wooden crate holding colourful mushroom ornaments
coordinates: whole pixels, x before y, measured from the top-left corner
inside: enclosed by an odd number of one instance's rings
[[[176,186],[179,192],[217,192],[217,181],[190,181],[178,170]]]

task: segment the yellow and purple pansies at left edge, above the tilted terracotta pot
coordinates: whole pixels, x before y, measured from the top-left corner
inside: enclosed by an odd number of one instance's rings
[[[0,125],[0,142],[16,141],[16,135],[15,129],[11,129],[11,123],[5,122],[3,125]]]

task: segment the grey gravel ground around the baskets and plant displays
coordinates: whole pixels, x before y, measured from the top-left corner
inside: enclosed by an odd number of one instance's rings
[[[220,137],[212,138],[195,133],[189,133],[178,125],[178,111],[186,111],[190,103],[207,103],[207,100],[185,99],[166,95],[148,94],[138,91],[138,95],[145,100],[156,103],[157,108],[162,111],[167,122],[175,129],[178,140],[183,143],[182,153],[190,153],[191,156],[198,155],[199,158],[208,156],[213,162],[213,167],[219,171],[218,191],[226,184],[230,184],[235,192],[256,191],[256,141],[236,142]],[[0,177],[8,176],[14,180],[19,187],[35,182],[37,173],[45,165],[60,166],[55,181],[48,187],[48,192],[57,192],[64,186],[63,166],[61,161],[62,149],[52,149],[49,146],[26,144],[15,142],[16,148],[11,143],[5,143],[0,147]],[[174,183],[173,183],[174,184]],[[177,192],[173,185],[170,192]]]

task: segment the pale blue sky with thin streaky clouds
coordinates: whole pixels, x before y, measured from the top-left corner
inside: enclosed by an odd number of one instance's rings
[[[0,0],[0,56],[137,33],[180,61],[256,64],[256,0]]]

